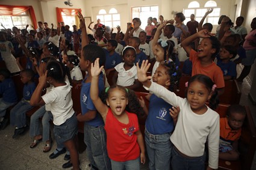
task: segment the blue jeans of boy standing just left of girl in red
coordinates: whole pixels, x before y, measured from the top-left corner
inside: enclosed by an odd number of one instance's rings
[[[94,167],[104,170],[111,169],[110,159],[107,153],[107,136],[104,126],[93,127],[84,124],[84,143],[87,145],[86,154]]]

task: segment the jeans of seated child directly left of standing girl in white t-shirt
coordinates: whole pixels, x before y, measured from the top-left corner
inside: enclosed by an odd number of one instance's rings
[[[40,132],[39,120],[42,118],[43,133]],[[30,136],[43,135],[43,141],[49,141],[50,137],[50,121],[52,120],[52,114],[50,111],[45,111],[45,105],[39,108],[30,118]]]

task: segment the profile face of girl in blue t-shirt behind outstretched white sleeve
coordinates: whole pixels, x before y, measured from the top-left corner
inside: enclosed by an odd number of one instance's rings
[[[170,76],[164,65],[159,65],[157,67],[152,80],[153,82],[158,83],[158,85],[162,85],[163,87],[168,87],[170,85]]]

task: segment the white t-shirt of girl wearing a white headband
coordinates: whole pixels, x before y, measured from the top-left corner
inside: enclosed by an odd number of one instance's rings
[[[117,85],[126,87],[134,84],[134,80],[138,79],[137,77],[137,67],[134,64],[133,67],[131,67],[130,70],[125,70],[123,67],[125,63],[121,62],[120,64],[116,65],[114,69],[118,72],[118,77],[117,77]]]

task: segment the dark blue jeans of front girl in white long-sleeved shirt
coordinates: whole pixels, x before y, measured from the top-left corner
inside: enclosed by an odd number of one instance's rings
[[[199,157],[187,158],[172,147],[172,170],[204,170],[205,154]]]

